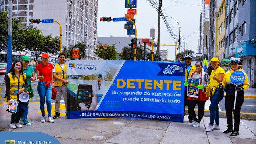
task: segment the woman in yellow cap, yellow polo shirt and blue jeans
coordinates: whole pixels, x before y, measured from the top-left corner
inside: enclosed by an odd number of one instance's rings
[[[211,59],[211,64],[214,70],[212,70],[211,75],[210,75],[210,86],[211,86],[211,94],[212,96],[210,97],[211,104],[209,106],[210,110],[210,124],[205,131],[209,132],[214,129],[220,129],[219,127],[219,102],[223,99],[224,97],[224,92],[223,89],[219,88],[219,84],[221,83],[225,71],[221,67],[219,67],[219,59],[214,57]],[[215,120],[215,125],[214,124]]]

